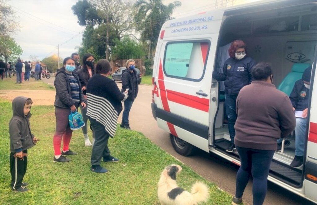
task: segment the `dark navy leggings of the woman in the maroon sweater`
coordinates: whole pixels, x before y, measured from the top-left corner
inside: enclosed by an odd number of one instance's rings
[[[237,147],[241,166],[236,175],[236,197],[241,198],[249,177],[253,177],[253,205],[262,205],[268,189],[268,172],[275,150]]]

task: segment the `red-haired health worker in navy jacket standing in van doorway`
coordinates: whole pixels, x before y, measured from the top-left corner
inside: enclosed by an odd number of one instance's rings
[[[219,81],[224,81],[226,114],[228,118],[228,129],[230,134],[230,146],[227,152],[232,152],[235,148],[234,137],[236,114],[236,99],[239,91],[252,81],[251,70],[256,62],[247,56],[247,46],[242,40],[232,42],[228,50],[230,58],[223,65],[223,73],[213,73],[212,77]]]

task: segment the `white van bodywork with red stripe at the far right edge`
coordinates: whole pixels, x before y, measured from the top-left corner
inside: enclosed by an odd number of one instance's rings
[[[312,69],[312,78],[310,86],[311,102],[310,102],[310,115],[309,115],[309,132],[306,152],[306,164],[304,170],[304,187],[305,195],[307,198],[317,201],[317,72],[316,61],[317,52],[315,47],[315,60]],[[314,82],[316,80],[316,82]]]

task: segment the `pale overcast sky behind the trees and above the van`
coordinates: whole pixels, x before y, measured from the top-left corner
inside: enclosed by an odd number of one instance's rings
[[[85,27],[78,25],[77,17],[71,10],[78,0],[10,0],[8,4],[16,11],[16,20],[20,31],[12,36],[23,49],[21,58],[30,60],[29,56],[43,59],[57,54],[60,44],[60,56],[65,58],[81,45],[82,31]],[[199,12],[215,9],[214,0],[180,0],[182,6],[173,17],[184,17]],[[218,0],[221,1],[221,0]],[[236,0],[236,4],[256,0]],[[165,4],[173,0],[163,0]]]

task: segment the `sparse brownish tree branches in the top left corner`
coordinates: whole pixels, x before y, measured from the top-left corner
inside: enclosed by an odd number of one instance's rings
[[[0,35],[2,36],[9,35],[18,28],[18,23],[14,20],[14,12],[7,1],[0,0]]]

